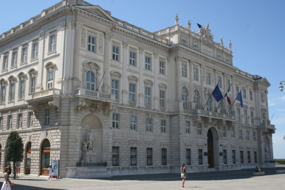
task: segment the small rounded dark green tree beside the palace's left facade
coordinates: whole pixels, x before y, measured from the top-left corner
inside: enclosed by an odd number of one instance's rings
[[[24,144],[22,138],[19,136],[19,133],[17,131],[12,131],[7,138],[7,142],[5,145],[4,159],[5,161],[13,162],[14,179],[15,179],[15,174],[17,172],[15,171],[15,163],[21,162],[23,158],[24,158]]]

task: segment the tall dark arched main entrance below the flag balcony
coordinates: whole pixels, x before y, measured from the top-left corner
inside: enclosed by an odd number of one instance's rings
[[[208,164],[209,168],[215,168],[219,164],[218,134],[214,127],[210,127],[207,133]]]

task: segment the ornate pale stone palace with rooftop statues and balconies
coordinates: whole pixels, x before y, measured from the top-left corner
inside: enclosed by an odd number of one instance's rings
[[[1,168],[11,131],[23,174],[56,159],[60,176],[79,178],[272,166],[270,83],[234,67],[209,24],[196,34],[178,19],[148,32],[63,0],[1,34]],[[231,110],[211,97],[217,83]]]

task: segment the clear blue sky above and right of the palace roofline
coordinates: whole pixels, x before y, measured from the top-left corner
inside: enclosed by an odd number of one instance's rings
[[[199,23],[213,32],[214,41],[223,37],[224,46],[232,41],[233,65],[252,75],[265,77],[268,88],[269,118],[275,125],[273,137],[274,158],[285,158],[285,89],[279,82],[285,80],[284,0],[86,0],[111,11],[112,16],[154,32],[174,25],[178,13],[179,24],[198,32]],[[0,34],[41,13],[60,0],[9,0],[1,2]],[[142,3],[142,4],[141,4]],[[246,25],[249,24],[249,27]]]

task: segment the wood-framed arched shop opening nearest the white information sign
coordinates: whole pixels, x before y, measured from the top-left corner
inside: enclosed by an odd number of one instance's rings
[[[50,166],[50,141],[44,140],[41,148],[40,175],[48,175],[48,167]]]

